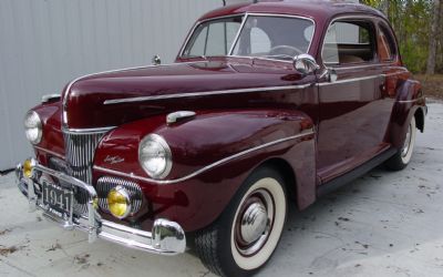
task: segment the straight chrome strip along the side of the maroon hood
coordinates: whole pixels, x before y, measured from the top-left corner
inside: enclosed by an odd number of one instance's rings
[[[286,86],[268,86],[268,88],[253,88],[253,89],[238,89],[238,90],[224,90],[224,91],[206,91],[206,92],[189,92],[189,93],[175,93],[155,96],[140,96],[140,98],[128,98],[128,99],[114,99],[104,101],[105,105],[121,104],[121,103],[133,103],[133,102],[144,102],[144,101],[155,101],[155,100],[166,100],[166,99],[183,99],[183,98],[194,98],[194,96],[208,96],[208,95],[223,95],[223,94],[234,94],[234,93],[248,93],[248,92],[270,92],[270,91],[282,91],[282,90],[301,90],[311,86],[312,84],[300,84],[300,85],[286,85]]]

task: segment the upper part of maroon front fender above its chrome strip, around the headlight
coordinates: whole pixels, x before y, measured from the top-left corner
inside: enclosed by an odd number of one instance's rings
[[[122,125],[103,137],[95,152],[96,167],[132,173],[150,178],[138,164],[138,144],[155,133],[168,143],[173,155],[171,174],[164,181],[178,183],[195,172],[238,153],[311,130],[312,122],[301,112],[229,111],[199,112],[182,124],[167,125],[155,116]],[[119,157],[121,163],[106,163]],[[123,162],[124,161],[124,162]]]

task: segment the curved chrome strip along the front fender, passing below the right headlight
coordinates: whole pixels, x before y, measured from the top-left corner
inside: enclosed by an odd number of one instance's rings
[[[109,170],[109,168],[105,168],[105,167],[102,167],[102,166],[94,166],[94,170],[101,171],[101,172],[105,172],[105,173],[109,173],[109,174],[112,174],[112,175],[117,175],[117,176],[122,176],[122,177],[138,179],[138,181],[154,183],[154,184],[162,184],[162,185],[176,184],[176,183],[181,183],[181,182],[190,179],[190,178],[193,178],[193,177],[195,177],[195,176],[197,176],[197,175],[199,175],[199,174],[202,174],[202,173],[204,173],[206,171],[209,171],[209,170],[212,170],[212,168],[214,168],[216,166],[219,166],[219,165],[222,165],[224,163],[227,163],[229,161],[233,161],[235,158],[245,156],[245,155],[247,155],[247,154],[249,154],[251,152],[259,151],[259,150],[262,150],[262,148],[266,148],[266,147],[269,147],[269,146],[274,146],[274,145],[279,144],[279,143],[284,143],[284,142],[288,142],[288,141],[292,141],[292,140],[298,140],[298,138],[301,138],[301,137],[305,137],[305,136],[309,136],[309,135],[313,135],[313,134],[315,134],[313,129],[308,129],[308,130],[302,131],[298,135],[292,135],[292,136],[280,138],[280,140],[277,140],[277,141],[274,141],[274,142],[268,142],[268,143],[258,145],[256,147],[253,147],[253,148],[249,148],[249,150],[245,150],[245,151],[239,152],[237,154],[230,155],[228,157],[222,158],[218,162],[209,164],[209,165],[207,165],[207,166],[205,166],[205,167],[203,167],[203,168],[200,168],[200,170],[198,170],[198,171],[196,171],[196,172],[194,172],[194,173],[192,173],[189,175],[186,175],[184,177],[176,178],[176,179],[165,179],[165,181],[153,179],[153,178],[148,178],[148,177],[137,176],[137,175],[132,174],[132,173],[127,174],[127,173],[123,173],[123,172],[119,172],[119,171],[114,171],[114,170]]]

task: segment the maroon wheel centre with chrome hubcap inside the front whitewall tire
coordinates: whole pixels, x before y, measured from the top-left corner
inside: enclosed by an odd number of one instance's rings
[[[255,191],[245,199],[235,227],[235,243],[241,255],[255,255],[266,244],[272,228],[274,211],[274,198],[266,189]]]

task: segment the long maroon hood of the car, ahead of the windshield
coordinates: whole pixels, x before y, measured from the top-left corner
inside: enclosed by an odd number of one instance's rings
[[[255,89],[295,85],[300,79],[291,63],[255,59],[104,72],[66,86],[63,122],[69,129],[94,129],[181,110],[262,106]]]

